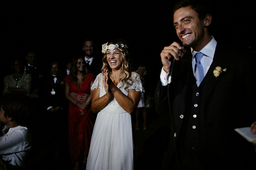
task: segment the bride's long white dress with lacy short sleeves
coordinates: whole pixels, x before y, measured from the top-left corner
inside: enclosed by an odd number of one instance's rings
[[[127,90],[119,83],[117,87],[127,95],[129,89],[143,92],[141,79],[132,72],[133,85]],[[103,74],[97,75],[91,90],[100,88],[99,97],[106,94]],[[133,169],[133,134],[131,115],[117,103],[114,96],[98,113],[91,137],[86,170]]]

